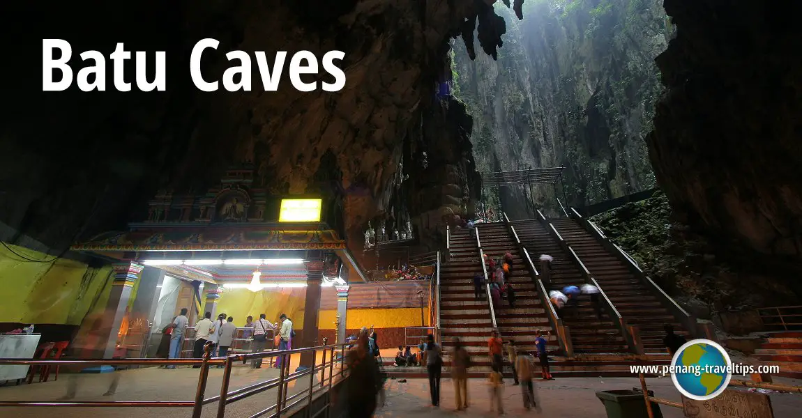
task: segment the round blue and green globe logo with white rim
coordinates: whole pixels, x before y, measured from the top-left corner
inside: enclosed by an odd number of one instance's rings
[[[684,396],[710,400],[727,389],[732,378],[730,356],[711,340],[691,340],[674,353],[671,380]]]

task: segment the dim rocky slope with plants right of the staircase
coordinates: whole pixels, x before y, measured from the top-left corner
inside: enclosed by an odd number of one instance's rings
[[[672,215],[666,195],[627,203],[591,218],[610,240],[691,313],[772,306],[798,301],[788,271],[755,254],[733,254],[731,245],[695,234]]]

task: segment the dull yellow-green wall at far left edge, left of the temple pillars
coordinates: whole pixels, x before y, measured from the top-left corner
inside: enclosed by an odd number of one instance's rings
[[[7,245],[29,259],[53,259]],[[0,245],[0,322],[79,325],[93,306],[105,307],[113,278],[110,266],[90,268],[69,259],[34,263]]]

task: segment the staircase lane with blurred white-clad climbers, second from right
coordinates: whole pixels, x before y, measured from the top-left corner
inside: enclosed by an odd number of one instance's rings
[[[560,290],[565,286],[579,286],[584,283],[579,267],[540,222],[530,219],[514,222],[512,226],[521,244],[529,251],[533,263],[538,263],[537,259],[541,254],[553,257],[549,290]],[[539,266],[536,264],[537,267]],[[608,312],[603,312],[601,319],[597,318],[586,296],[580,297],[575,311],[563,310],[559,315],[571,330],[575,353],[630,353],[618,324],[614,323]]]

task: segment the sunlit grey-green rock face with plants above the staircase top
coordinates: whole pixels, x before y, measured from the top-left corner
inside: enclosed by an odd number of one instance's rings
[[[654,187],[643,138],[661,91],[654,57],[670,38],[662,0],[535,0],[520,22],[504,6],[496,14],[507,28],[497,61],[455,45],[479,170],[566,167],[578,206]],[[554,213],[563,197],[559,185],[533,194],[505,193],[504,209],[526,216],[532,199]]]

